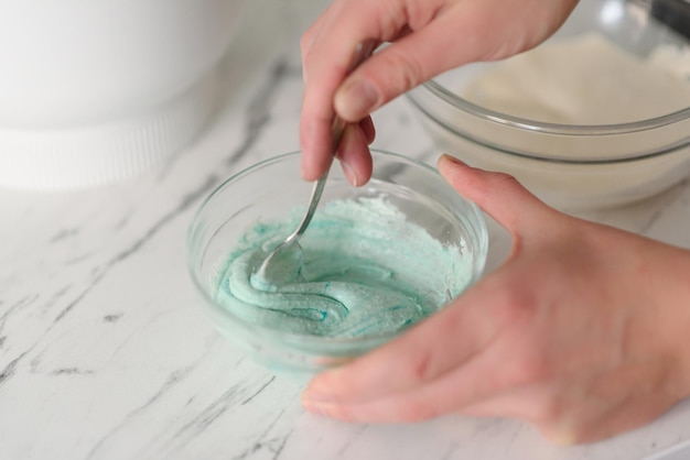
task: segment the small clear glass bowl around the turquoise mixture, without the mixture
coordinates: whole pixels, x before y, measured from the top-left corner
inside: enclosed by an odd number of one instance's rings
[[[433,168],[397,154],[373,151],[371,180],[349,186],[339,167],[333,167],[320,208],[328,201],[385,196],[443,245],[462,240],[467,263],[464,288],[481,276],[488,234],[484,217],[461,197]],[[305,206],[311,184],[300,178],[300,153],[260,162],[230,177],[201,205],[188,228],[186,258],[202,305],[214,326],[256,361],[277,371],[311,374],[336,365],[390,340],[400,332],[357,338],[289,333],[251,324],[214,300],[218,274],[242,234],[258,221],[279,219],[290,209]],[[305,237],[309,233],[306,230]],[[287,236],[285,236],[287,237]],[[439,271],[449,271],[439,267]],[[446,275],[453,276],[453,273]],[[439,305],[439,309],[443,305]]]

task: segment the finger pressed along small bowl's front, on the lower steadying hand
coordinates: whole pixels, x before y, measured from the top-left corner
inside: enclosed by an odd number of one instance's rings
[[[424,385],[472,359],[500,326],[485,311],[494,285],[482,281],[398,339],[312,380],[303,401],[357,403]]]

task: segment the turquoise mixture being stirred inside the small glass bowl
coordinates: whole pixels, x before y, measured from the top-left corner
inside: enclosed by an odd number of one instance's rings
[[[254,275],[303,213],[258,222],[230,252],[214,297],[247,322],[281,331],[362,337],[396,332],[454,298],[468,283],[463,242],[446,247],[386,198],[328,202],[300,248]]]

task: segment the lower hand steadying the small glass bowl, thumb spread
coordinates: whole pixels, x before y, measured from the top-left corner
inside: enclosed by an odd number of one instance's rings
[[[690,252],[558,212],[514,178],[439,162],[511,234],[505,264],[303,395],[351,421],[522,419],[561,443],[632,429],[690,394]]]

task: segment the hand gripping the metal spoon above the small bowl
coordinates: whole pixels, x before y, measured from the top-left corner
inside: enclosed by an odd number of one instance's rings
[[[336,156],[353,185],[371,175],[369,113],[444,70],[508,57],[551,35],[576,0],[335,0],[301,42],[304,97],[302,176],[332,161],[335,111],[351,122]],[[349,76],[359,43],[390,42]]]

